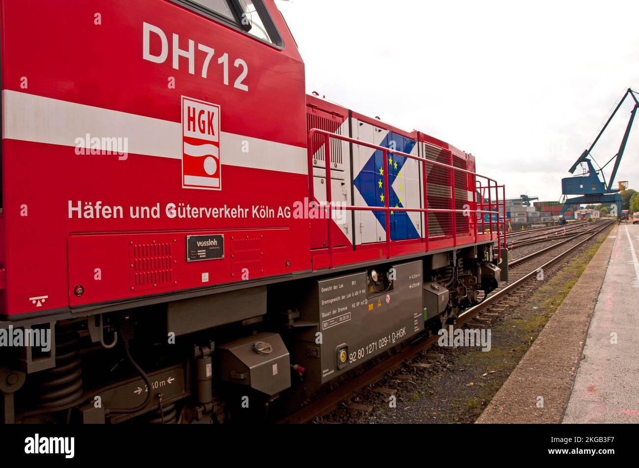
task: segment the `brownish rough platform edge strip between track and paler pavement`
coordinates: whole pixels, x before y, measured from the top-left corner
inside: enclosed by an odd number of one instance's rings
[[[608,260],[615,246],[617,233],[625,233],[622,229],[623,225],[621,229],[614,227],[610,236],[601,244],[578,282],[477,419],[477,423],[562,421],[590,318],[604,282]],[[634,356],[637,360],[636,353]],[[631,357],[628,356],[628,359]]]

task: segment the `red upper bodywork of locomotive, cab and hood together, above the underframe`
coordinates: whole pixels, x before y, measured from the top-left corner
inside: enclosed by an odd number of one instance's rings
[[[330,236],[325,219],[309,219],[309,198],[325,202],[328,186],[311,128],[361,141],[373,128],[369,143],[401,139],[401,153],[468,171],[474,158],[306,96],[293,37],[264,4],[273,43],[177,0],[2,1],[0,317],[170,300],[312,273],[331,255],[340,266],[496,238],[461,213],[428,213],[426,232],[424,163],[403,156],[419,169],[403,183],[391,163],[390,206],[418,211],[392,214],[390,251],[370,211],[331,221]],[[364,190],[379,150],[355,160],[354,146],[332,143],[331,199],[383,207]],[[472,174],[451,183],[433,167],[428,181],[429,209],[478,208]]]

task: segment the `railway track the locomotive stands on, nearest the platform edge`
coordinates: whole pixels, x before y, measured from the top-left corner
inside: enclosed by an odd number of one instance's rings
[[[612,224],[612,220],[597,222],[596,225],[591,225],[588,229],[585,229],[582,232],[576,232],[571,236],[567,236],[566,239],[563,239],[558,243],[542,248],[539,251],[526,255],[525,257],[521,257],[520,259],[512,260],[512,262],[509,262],[508,265],[509,282],[491,292],[491,294],[489,294],[480,304],[468,308],[465,312],[461,313],[456,320],[455,327],[461,327],[463,324],[473,319],[473,317],[476,317],[479,313],[497,305],[497,303],[507,297],[508,294],[520,289],[527,280],[538,275],[539,271],[544,271],[544,275],[553,273],[553,265],[555,265],[558,260],[566,257],[571,252],[590,241],[590,239],[596,237],[597,234],[603,232],[604,229],[610,227]],[[373,366],[373,368],[366,371],[360,371],[361,373],[353,377],[351,380],[344,382],[339,387],[329,391],[326,395],[310,402],[306,406],[278,422],[302,424],[312,421],[317,416],[327,414],[341,404],[341,402],[348,400],[355,395],[355,392],[358,390],[380,381],[388,372],[403,365],[404,361],[413,359],[421,352],[426,351],[437,342],[438,338],[438,335],[420,336],[416,340],[413,340],[413,342],[404,345],[404,347],[397,351],[396,354],[389,356],[381,363]]]

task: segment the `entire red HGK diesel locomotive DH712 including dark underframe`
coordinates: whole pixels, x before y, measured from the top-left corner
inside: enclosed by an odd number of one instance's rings
[[[504,187],[273,0],[1,3],[4,422],[275,418],[504,279]]]

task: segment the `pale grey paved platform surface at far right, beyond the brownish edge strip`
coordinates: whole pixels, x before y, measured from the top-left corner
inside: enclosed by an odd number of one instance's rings
[[[639,225],[620,225],[564,423],[639,423],[638,256]]]

